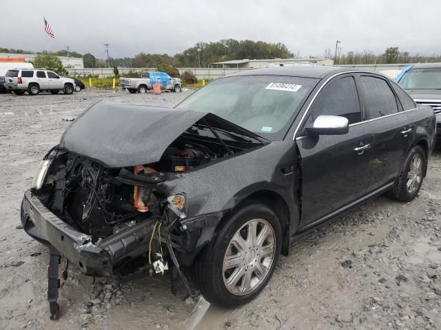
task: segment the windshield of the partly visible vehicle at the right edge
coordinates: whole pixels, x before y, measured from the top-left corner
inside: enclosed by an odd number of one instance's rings
[[[398,85],[404,89],[441,89],[441,67],[411,69]]]

